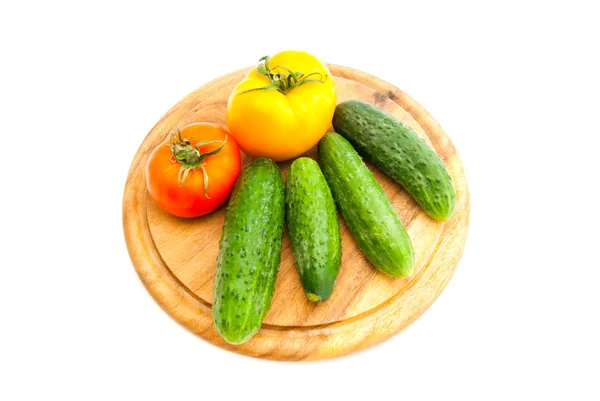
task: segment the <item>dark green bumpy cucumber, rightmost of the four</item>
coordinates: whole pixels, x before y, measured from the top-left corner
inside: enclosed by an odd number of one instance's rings
[[[338,104],[333,127],[366,160],[396,180],[439,221],[454,212],[452,179],[438,155],[410,127],[368,103]]]

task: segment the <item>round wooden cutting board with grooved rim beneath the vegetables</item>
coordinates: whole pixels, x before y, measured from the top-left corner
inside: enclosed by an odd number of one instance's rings
[[[394,181],[369,168],[404,223],[415,251],[415,274],[391,278],[376,271],[341,222],[342,266],[331,298],[307,301],[287,232],[271,309],[248,342],[231,345],[217,333],[211,304],[225,206],[196,219],[159,209],[147,196],[145,166],[150,152],[170,132],[197,121],[225,125],[233,87],[249,69],[225,75],[190,93],[165,114],[140,146],[127,178],[123,226],[131,260],[160,306],[193,333],[225,349],[275,360],[331,358],[371,346],[420,316],[450,280],[469,225],[469,192],[461,160],[440,125],[408,95],[371,75],[329,65],[338,102],[361,99],[412,127],[440,155],[456,190],[456,212],[445,223],[429,218]],[[316,158],[315,149],[308,156]],[[248,157],[244,157],[247,164]],[[280,163],[285,173],[289,162]],[[285,176],[284,176],[285,177]]]

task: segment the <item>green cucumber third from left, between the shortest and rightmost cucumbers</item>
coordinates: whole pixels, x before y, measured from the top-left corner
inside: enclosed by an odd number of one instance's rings
[[[346,226],[367,259],[390,276],[413,274],[410,239],[392,203],[352,145],[339,134],[318,146],[323,175]]]

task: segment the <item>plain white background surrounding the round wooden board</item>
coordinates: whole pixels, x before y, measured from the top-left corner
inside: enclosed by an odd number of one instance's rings
[[[596,2],[149,3],[0,6],[0,399],[600,399]],[[471,190],[442,296],[326,362],[194,337],[141,285],[121,226],[162,114],[287,48],[414,97]]]

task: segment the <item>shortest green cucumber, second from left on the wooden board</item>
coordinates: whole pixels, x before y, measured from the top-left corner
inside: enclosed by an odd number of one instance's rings
[[[285,182],[286,221],[300,281],[309,301],[333,292],[342,263],[342,240],[335,202],[319,165],[296,159]]]

